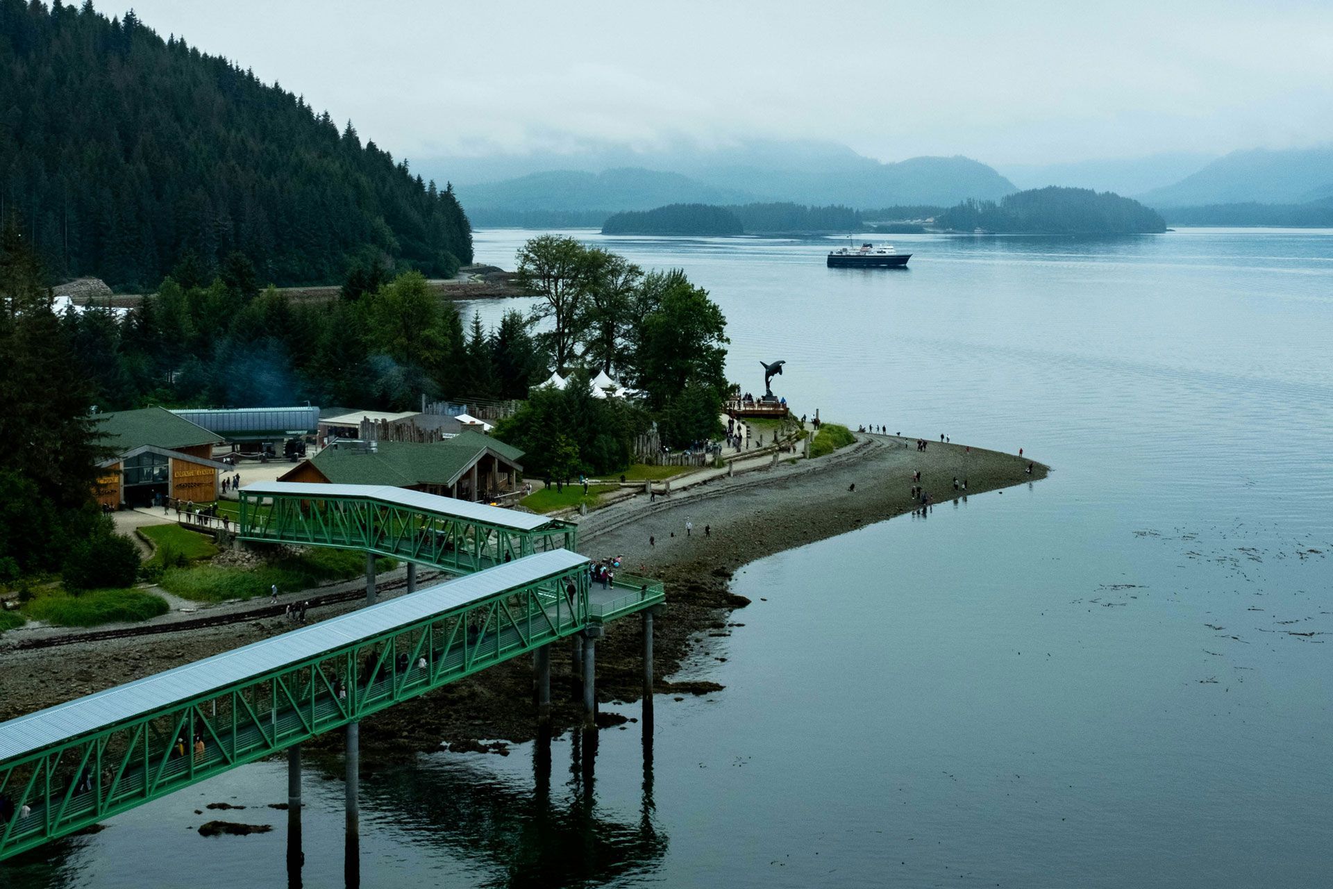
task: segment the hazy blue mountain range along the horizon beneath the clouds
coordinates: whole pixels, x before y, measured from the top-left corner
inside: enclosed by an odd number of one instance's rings
[[[1110,191],[1154,208],[1300,204],[1333,195],[1333,147],[1254,149],[1221,157],[1174,152],[996,169],[961,156],[881,163],[834,143],[754,141],[717,149],[636,152],[604,147],[559,155],[425,159],[415,168],[453,181],[463,205],[483,215],[752,201],[858,209],[949,207],[1044,185]]]

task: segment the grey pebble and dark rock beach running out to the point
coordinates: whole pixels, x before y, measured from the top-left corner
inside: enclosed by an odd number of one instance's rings
[[[732,609],[748,600],[729,590],[732,574],[764,556],[854,530],[918,508],[910,496],[912,473],[937,504],[953,498],[952,480],[968,480],[968,496],[1046,476],[1046,466],[993,450],[932,443],[917,452],[913,440],[858,435],[857,444],[826,457],[780,464],[772,469],[718,477],[659,497],[639,496],[595,512],[580,525],[584,553],[623,556],[628,569],[666,581],[665,614],[656,621],[655,666],[659,693],[706,693],[708,682],[669,682],[680,664],[708,632],[726,626]],[[849,489],[854,485],[854,490]],[[961,496],[961,492],[958,493]],[[693,524],[685,536],[685,518]],[[705,526],[710,533],[705,534]],[[674,534],[674,536],[672,536]],[[649,537],[655,545],[649,545]],[[339,608],[320,614],[329,617]],[[207,657],[289,629],[281,618],[204,629],[188,637],[105,640],[59,649],[0,654],[0,720],[51,706],[120,682]],[[599,701],[640,697],[643,625],[625,618],[608,626],[597,646]],[[552,658],[553,722],[564,730],[580,721],[567,646]],[[616,721],[608,714],[604,724]],[[493,749],[481,741],[529,740],[536,732],[532,706],[532,658],[519,657],[437,692],[367,718],[363,748],[411,757],[440,749]],[[333,732],[308,744],[331,753],[341,749]]]

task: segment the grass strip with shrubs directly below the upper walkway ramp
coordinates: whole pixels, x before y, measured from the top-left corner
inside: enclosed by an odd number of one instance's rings
[[[399,560],[380,557],[375,560],[375,566],[380,572],[393,570],[399,566]],[[360,552],[311,549],[295,558],[283,558],[257,568],[223,565],[169,568],[163,574],[161,588],[196,602],[221,602],[229,598],[264,596],[273,584],[285,593],[348,580],[364,570],[365,556]]]

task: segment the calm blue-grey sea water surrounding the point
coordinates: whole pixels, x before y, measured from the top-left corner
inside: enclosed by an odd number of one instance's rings
[[[368,776],[364,885],[1333,881],[1333,232],[898,237],[906,272],[580,236],[708,287],[748,389],[785,359],[798,411],[1056,472],[750,565],[745,626],[685,670],[726,690],[660,698],[651,760],[633,722]],[[339,768],[307,885],[343,880]],[[281,884],[284,797],[249,766],[17,882]],[[200,838],[215,800],[275,833]]]

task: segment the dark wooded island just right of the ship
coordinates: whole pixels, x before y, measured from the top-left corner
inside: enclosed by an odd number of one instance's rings
[[[964,201],[934,217],[934,229],[996,235],[1141,235],[1166,231],[1138,201],[1088,188],[1034,188],[1000,201]]]

